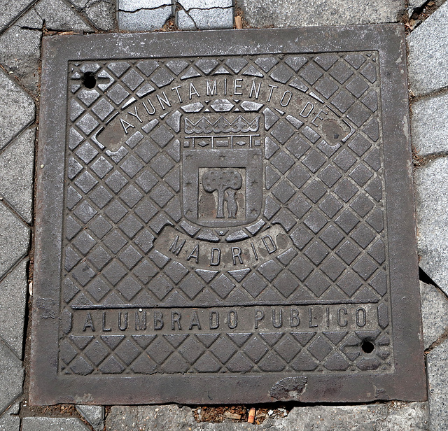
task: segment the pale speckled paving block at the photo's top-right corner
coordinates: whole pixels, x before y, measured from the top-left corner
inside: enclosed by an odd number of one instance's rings
[[[416,96],[448,85],[448,3],[445,2],[407,38],[408,78]]]

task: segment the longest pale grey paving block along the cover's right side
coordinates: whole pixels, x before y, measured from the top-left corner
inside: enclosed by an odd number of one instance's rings
[[[448,294],[448,158],[441,157],[414,173],[419,264]]]

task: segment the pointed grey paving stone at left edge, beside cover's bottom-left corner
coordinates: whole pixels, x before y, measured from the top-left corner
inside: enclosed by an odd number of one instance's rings
[[[0,414],[21,393],[23,383],[22,361],[0,341]]]

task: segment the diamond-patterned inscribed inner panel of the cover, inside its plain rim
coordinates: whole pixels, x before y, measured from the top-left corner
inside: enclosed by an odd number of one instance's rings
[[[381,55],[66,59],[59,379],[396,374]]]

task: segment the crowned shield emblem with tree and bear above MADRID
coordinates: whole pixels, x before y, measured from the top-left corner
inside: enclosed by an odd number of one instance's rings
[[[262,209],[259,115],[184,118],[183,213],[197,225],[230,227]]]

